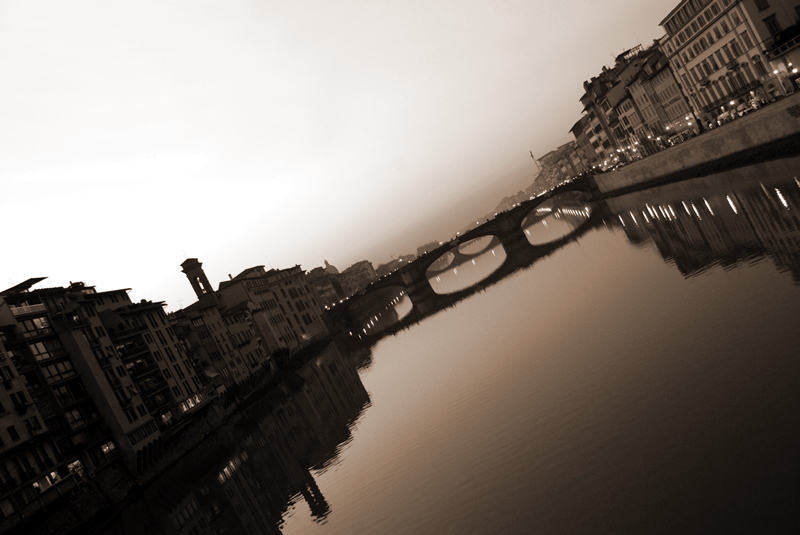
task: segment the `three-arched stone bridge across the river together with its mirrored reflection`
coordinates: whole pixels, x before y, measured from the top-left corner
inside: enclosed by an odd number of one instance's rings
[[[376,281],[334,309],[333,320],[361,340],[404,329],[602,225],[596,206],[585,184],[522,203]],[[401,296],[402,315],[393,312]]]

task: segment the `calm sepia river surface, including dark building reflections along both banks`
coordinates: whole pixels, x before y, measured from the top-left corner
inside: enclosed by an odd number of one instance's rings
[[[800,532],[798,174],[592,207],[529,268],[332,344],[109,533]]]

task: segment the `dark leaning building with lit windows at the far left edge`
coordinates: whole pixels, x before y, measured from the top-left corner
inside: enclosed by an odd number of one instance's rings
[[[79,311],[87,289],[30,290],[42,280],[0,292],[0,399],[15,413],[0,415],[3,527],[93,477],[119,453],[93,395],[97,378],[87,373],[87,357],[103,335],[97,314]]]

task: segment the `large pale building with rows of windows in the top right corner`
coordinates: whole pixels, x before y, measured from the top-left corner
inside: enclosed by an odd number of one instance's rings
[[[797,24],[795,7],[791,0],[683,0],[661,21],[661,49],[704,124],[750,100],[751,91],[766,99],[786,94],[782,77],[791,66],[781,58],[791,50],[768,51],[782,24]]]

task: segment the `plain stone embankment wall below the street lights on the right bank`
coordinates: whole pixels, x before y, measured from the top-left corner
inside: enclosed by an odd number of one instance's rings
[[[708,174],[800,147],[800,92],[622,169],[596,174],[601,195]],[[691,173],[690,173],[691,172]]]

